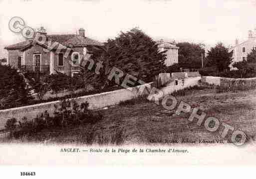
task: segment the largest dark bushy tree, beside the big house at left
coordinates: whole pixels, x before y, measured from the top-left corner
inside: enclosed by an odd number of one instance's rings
[[[166,55],[159,52],[158,45],[151,37],[138,28],[133,28],[124,33],[121,32],[115,39],[108,39],[103,48],[96,50],[92,59],[101,62],[100,75],[97,82],[101,86],[116,85],[107,81],[107,76],[112,67],[116,67],[137,79],[149,82],[165,69]]]

